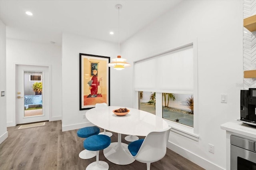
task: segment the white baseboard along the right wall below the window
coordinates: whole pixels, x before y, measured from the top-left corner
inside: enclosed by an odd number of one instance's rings
[[[177,154],[180,154],[181,156],[183,156],[184,158],[190,160],[191,162],[194,162],[195,164],[197,164],[198,166],[201,166],[202,168],[206,169],[206,170],[225,170],[224,168],[221,168],[220,166],[188,151],[185,150],[184,148],[168,141],[167,143],[167,148],[169,148],[170,150],[176,152]]]

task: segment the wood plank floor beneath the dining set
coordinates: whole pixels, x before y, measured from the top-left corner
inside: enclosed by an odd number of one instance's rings
[[[85,170],[96,157],[83,160],[78,154],[83,150],[83,138],[77,130],[62,132],[61,121],[46,122],[46,126],[17,130],[8,127],[8,138],[0,144],[0,170]],[[102,131],[102,129],[101,129]],[[122,135],[122,142],[125,135]],[[117,142],[113,133],[112,142]],[[100,160],[109,164],[110,170],[146,170],[146,164],[134,161],[129,165],[116,165],[106,160],[100,151]],[[151,164],[151,170],[203,170],[170,149],[166,156]]]

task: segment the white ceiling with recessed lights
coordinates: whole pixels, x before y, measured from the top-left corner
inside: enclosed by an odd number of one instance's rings
[[[181,1],[0,0],[0,19],[6,24],[7,38],[61,45],[65,32],[123,42]],[[122,4],[119,40],[116,4]],[[33,16],[26,15],[26,11]]]

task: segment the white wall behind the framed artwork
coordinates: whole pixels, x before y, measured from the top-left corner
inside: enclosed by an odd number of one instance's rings
[[[116,58],[118,44],[104,42],[83,36],[64,33],[62,35],[62,131],[78,129],[90,125],[83,115],[87,110],[79,110],[79,53],[102,55]],[[110,69],[110,105],[119,105],[122,96],[118,79],[122,71]],[[124,104],[122,104],[124,105]]]

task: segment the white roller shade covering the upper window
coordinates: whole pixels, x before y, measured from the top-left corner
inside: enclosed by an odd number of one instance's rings
[[[135,62],[136,91],[193,93],[193,46]]]

